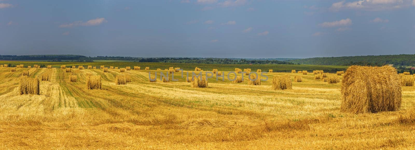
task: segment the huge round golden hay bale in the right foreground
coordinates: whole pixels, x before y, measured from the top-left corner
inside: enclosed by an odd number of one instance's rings
[[[343,76],[343,112],[395,111],[402,102],[402,88],[396,69],[390,66],[350,66]]]

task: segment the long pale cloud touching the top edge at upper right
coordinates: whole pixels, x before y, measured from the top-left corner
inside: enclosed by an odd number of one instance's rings
[[[335,2],[330,7],[332,11],[343,9],[360,9],[368,11],[381,11],[401,8],[410,5],[409,0],[358,0],[354,2]]]

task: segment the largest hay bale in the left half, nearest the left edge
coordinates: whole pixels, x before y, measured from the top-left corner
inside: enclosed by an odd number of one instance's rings
[[[37,78],[20,78],[19,91],[20,95],[23,94],[34,94],[39,95],[39,79]]]

